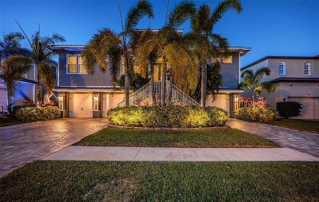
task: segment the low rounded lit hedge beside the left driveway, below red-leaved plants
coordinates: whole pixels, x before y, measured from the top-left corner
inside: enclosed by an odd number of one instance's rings
[[[23,107],[16,111],[15,116],[22,121],[50,120],[59,118],[60,110],[56,106]]]

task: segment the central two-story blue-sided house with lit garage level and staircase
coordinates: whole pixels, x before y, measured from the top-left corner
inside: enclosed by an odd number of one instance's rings
[[[63,112],[63,117],[106,117],[109,109],[124,106],[125,93],[123,90],[114,90],[109,72],[111,63],[107,58],[107,71],[102,73],[96,65],[94,74],[91,75],[85,71],[82,64],[81,51],[84,45],[56,45],[54,47],[65,50],[65,53],[59,55],[57,86],[53,89],[59,98],[59,108]],[[206,106],[223,108],[229,112],[230,117],[233,117],[234,112],[238,110],[239,93],[243,92],[237,88],[240,82],[240,57],[251,48],[230,47],[229,49],[230,56],[224,59],[221,68],[222,89],[214,102],[208,95]],[[158,78],[155,77],[156,80]],[[157,97],[160,96],[159,84],[160,81],[156,81]],[[198,105],[177,88],[173,88],[173,93],[174,101],[180,104]],[[152,103],[150,94],[150,84],[147,84],[130,95],[130,105],[136,105],[137,100],[142,101],[143,104]]]

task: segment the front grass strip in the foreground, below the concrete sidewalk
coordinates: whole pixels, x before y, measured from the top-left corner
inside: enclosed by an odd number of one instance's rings
[[[319,201],[319,162],[36,161],[0,201]]]

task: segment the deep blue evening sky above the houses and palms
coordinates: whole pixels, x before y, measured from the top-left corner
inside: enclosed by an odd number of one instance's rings
[[[120,0],[123,18],[136,0]],[[169,8],[178,0],[169,0]],[[209,0],[194,0],[197,5]],[[219,0],[211,0],[214,8]],[[167,0],[151,0],[155,18],[151,28],[162,27]],[[243,11],[227,12],[214,31],[229,39],[231,46],[251,47],[241,58],[241,67],[267,55],[315,56],[319,54],[319,0],[242,0]],[[117,0],[0,0],[0,37],[21,31],[28,37],[59,33],[66,38],[61,44],[85,44],[97,29],[110,27],[121,31]],[[138,28],[146,28],[143,19]],[[180,27],[189,30],[189,23]],[[22,42],[29,47],[27,40]]]

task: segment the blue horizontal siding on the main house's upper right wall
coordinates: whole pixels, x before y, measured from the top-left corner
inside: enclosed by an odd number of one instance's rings
[[[239,54],[234,53],[230,54],[233,56],[232,63],[224,63],[221,66],[220,69],[220,74],[222,75],[223,83],[222,87],[227,88],[227,87],[237,87],[237,84],[239,83]]]

